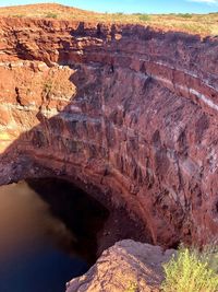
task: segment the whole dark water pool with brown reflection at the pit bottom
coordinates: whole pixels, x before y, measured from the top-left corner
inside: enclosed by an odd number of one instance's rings
[[[61,292],[95,261],[107,211],[58,179],[0,187],[0,292]]]

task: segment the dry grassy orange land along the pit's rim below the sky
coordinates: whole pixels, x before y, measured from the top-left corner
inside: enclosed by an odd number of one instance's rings
[[[55,3],[9,7],[0,9],[0,16],[51,17],[87,22],[116,22],[150,25],[166,31],[180,31],[191,34],[218,36],[218,13],[190,14],[146,14],[97,13]]]

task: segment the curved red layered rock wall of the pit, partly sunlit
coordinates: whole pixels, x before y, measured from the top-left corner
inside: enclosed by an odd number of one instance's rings
[[[65,177],[154,244],[217,238],[216,38],[1,19],[0,80],[0,184]]]

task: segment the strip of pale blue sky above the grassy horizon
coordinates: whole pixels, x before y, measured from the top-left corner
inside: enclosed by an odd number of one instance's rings
[[[58,2],[65,5],[102,12],[142,12],[142,13],[169,13],[218,12],[218,0],[0,0],[0,5],[15,5],[27,3]]]

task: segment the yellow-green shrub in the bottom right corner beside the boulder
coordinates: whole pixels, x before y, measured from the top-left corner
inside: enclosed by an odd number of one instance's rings
[[[165,292],[217,292],[218,250],[207,247],[202,253],[196,248],[181,247],[177,257],[164,265]]]

